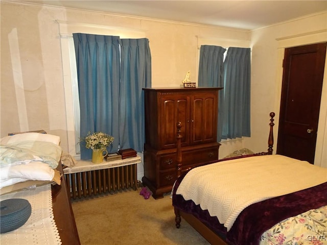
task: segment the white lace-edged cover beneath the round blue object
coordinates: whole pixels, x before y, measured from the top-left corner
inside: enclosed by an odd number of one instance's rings
[[[28,190],[11,192],[1,196],[1,200],[26,199],[32,206],[27,222],[18,229],[0,234],[1,244],[61,244],[52,209],[51,184],[30,187]]]

